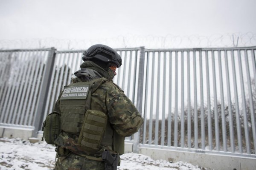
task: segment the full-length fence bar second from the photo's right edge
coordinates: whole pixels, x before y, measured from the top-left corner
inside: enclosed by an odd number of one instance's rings
[[[239,61],[240,87],[241,87],[241,95],[242,95],[242,108],[243,108],[242,113],[244,116],[245,144],[246,144],[247,154],[250,154],[249,130],[248,130],[248,122],[247,122],[246,99],[245,99],[245,92],[244,92],[244,78],[243,78],[241,51],[240,50],[238,50],[238,61]]]

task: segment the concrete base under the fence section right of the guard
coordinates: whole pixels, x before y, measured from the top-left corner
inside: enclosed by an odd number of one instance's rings
[[[152,159],[172,162],[183,161],[215,170],[256,170],[256,158],[192,153],[151,147],[140,147],[140,153],[150,156]]]

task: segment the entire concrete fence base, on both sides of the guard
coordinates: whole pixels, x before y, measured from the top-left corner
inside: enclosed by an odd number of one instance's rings
[[[32,132],[32,128],[0,126],[0,137],[20,138],[33,143],[41,142],[43,133],[39,132],[37,138],[32,138]],[[125,153],[133,152],[133,145],[133,141],[125,141]],[[139,145],[139,153],[150,156],[152,159],[163,159],[171,162],[183,161],[215,170],[256,170],[256,158],[166,150],[146,147],[141,144]]]

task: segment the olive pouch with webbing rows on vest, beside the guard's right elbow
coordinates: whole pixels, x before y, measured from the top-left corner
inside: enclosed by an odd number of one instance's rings
[[[78,144],[87,152],[97,152],[100,149],[107,122],[108,116],[102,111],[87,110]]]

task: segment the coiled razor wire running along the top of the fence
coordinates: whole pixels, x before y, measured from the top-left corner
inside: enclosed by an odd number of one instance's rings
[[[105,39],[23,39],[0,40],[0,49],[15,48],[49,48],[58,50],[81,50],[92,44],[108,44],[113,48],[212,48],[212,47],[247,47],[256,45],[256,33],[212,34],[211,36],[190,35],[166,36],[132,35],[117,36]]]

